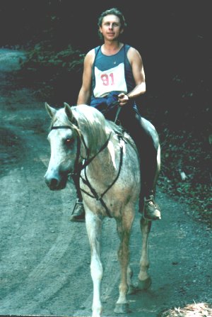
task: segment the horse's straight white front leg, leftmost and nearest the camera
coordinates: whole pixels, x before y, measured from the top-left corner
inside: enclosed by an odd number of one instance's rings
[[[102,281],[102,262],[100,260],[100,239],[102,221],[90,210],[86,210],[86,229],[90,242],[90,274],[93,279],[93,317],[102,316],[102,304],[100,300],[100,286]]]

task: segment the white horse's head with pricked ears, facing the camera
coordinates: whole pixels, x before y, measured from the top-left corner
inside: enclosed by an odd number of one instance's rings
[[[56,110],[45,104],[52,118],[48,140],[51,147],[51,158],[45,174],[49,189],[59,190],[66,187],[69,173],[74,172],[78,160],[78,133],[76,120],[71,107],[64,103],[64,108]]]

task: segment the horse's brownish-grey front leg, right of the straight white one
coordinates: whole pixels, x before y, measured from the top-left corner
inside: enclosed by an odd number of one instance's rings
[[[134,213],[131,211],[127,211],[122,217],[122,220],[117,220],[117,232],[120,238],[118,257],[121,265],[121,281],[119,284],[119,299],[114,308],[115,313],[129,312],[126,294],[129,289],[129,274],[131,274],[131,269],[129,267],[129,238],[133,220]]]

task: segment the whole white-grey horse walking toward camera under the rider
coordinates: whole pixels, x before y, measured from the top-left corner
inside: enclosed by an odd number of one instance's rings
[[[102,316],[100,284],[103,275],[100,259],[100,236],[105,217],[114,218],[119,236],[117,252],[121,268],[119,298],[116,313],[129,311],[127,294],[134,291],[132,270],[129,265],[129,238],[138,206],[141,189],[139,155],[130,135],[121,126],[108,121],[97,109],[88,106],[69,106],[54,109],[45,103],[52,119],[48,140],[51,156],[45,182],[49,189],[66,187],[70,176],[80,174],[83,206],[86,211],[86,230],[90,243],[90,274],[93,279],[93,317]],[[157,133],[148,121],[155,139]],[[158,145],[158,171],[160,170],[160,145]],[[151,221],[140,219],[142,250],[139,282],[136,288],[148,289],[148,235]]]

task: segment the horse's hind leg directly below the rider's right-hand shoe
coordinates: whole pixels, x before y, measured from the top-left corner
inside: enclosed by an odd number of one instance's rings
[[[138,287],[139,289],[148,289],[151,286],[151,277],[148,274],[148,234],[151,230],[151,221],[147,221],[146,219],[141,218],[140,226],[142,233],[142,250]]]

